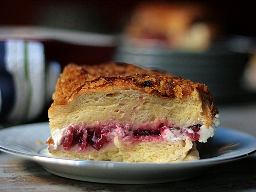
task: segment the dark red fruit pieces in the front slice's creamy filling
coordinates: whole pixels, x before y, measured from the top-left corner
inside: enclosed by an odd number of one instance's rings
[[[181,128],[171,128],[171,130],[178,130],[181,134],[186,135],[190,138],[191,141],[198,140],[200,135],[198,131],[200,130],[201,125],[194,125],[187,129]],[[161,131],[165,129],[166,126],[160,124],[160,126],[154,130],[141,128],[132,131],[132,133],[126,133],[126,135],[133,135],[135,137],[142,136],[161,136]],[[192,131],[189,131],[191,129]],[[78,125],[71,125],[67,128],[67,132],[64,136],[63,148],[64,150],[68,150],[70,147],[74,145],[78,145],[79,151],[84,150],[87,145],[91,145],[96,150],[100,150],[106,141],[106,135],[109,133],[108,129],[96,128],[79,128]]]

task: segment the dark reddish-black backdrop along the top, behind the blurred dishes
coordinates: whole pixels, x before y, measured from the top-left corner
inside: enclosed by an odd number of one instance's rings
[[[43,25],[90,32],[119,33],[139,0],[1,1],[1,25]],[[170,1],[173,2],[173,1]],[[197,1],[176,1],[197,2]],[[201,1],[198,1],[201,3]],[[255,35],[255,3],[205,0],[227,34]]]

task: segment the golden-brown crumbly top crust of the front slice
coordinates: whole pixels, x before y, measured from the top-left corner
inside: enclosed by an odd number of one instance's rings
[[[58,79],[52,105],[67,104],[78,93],[96,90],[134,88],[157,94],[166,99],[189,96],[197,89],[211,106],[214,115],[218,109],[205,84],[195,83],[154,70],[144,70],[131,64],[109,62],[100,65],[69,64]]]

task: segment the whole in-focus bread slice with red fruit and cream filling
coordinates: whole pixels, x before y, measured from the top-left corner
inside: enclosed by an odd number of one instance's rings
[[[218,109],[204,84],[130,64],[65,67],[49,108],[49,152],[125,162],[198,160]]]

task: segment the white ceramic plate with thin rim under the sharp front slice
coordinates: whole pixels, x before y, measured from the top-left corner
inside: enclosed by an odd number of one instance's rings
[[[210,166],[256,153],[256,138],[241,131],[218,127],[214,137],[198,145],[201,159],[180,163],[125,163],[67,160],[52,157],[44,143],[48,122],[0,130],[0,150],[41,164],[55,175],[100,183],[164,183],[203,173]],[[200,144],[200,143],[199,143]]]

